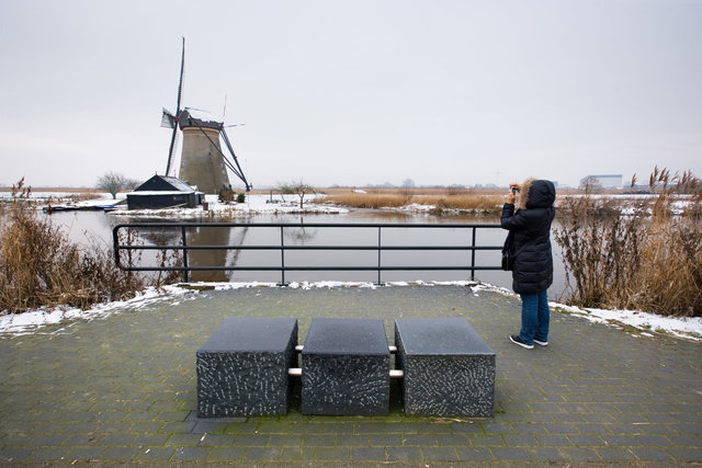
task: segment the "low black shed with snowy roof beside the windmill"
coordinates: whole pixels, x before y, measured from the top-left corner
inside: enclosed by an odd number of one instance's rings
[[[127,193],[129,209],[194,208],[205,199],[202,192],[177,178],[154,175]]]

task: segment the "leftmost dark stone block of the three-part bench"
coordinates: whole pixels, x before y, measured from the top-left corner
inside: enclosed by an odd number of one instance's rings
[[[196,353],[200,418],[286,414],[297,320],[229,318]]]

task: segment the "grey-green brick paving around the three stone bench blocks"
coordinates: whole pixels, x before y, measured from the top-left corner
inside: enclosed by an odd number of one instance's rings
[[[526,351],[518,299],[462,286],[192,293],[0,339],[0,461],[702,461],[702,345],[552,315]],[[231,316],[465,317],[497,353],[495,416],[195,416],[197,347]],[[396,390],[396,389],[394,389]],[[396,395],[396,391],[394,392]]]

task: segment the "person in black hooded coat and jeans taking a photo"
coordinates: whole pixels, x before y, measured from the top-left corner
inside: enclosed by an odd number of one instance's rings
[[[531,350],[534,343],[548,345],[548,298],[553,283],[551,222],[556,214],[553,204],[556,189],[551,181],[528,179],[523,184],[509,184],[511,191],[502,206],[500,224],[512,236],[512,289],[522,299],[522,328],[510,341]],[[516,193],[519,202],[514,208]]]

